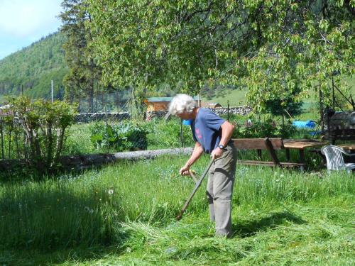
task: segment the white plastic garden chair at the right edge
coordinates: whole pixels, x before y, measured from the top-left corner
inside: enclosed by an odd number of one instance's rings
[[[346,170],[346,172],[350,174],[351,170],[355,169],[355,163],[345,163],[343,158],[343,154],[347,156],[355,156],[355,153],[346,153],[345,150],[334,145],[324,146],[320,151],[327,159],[328,172],[331,170]]]

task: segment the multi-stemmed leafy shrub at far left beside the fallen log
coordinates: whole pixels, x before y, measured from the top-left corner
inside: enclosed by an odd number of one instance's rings
[[[40,99],[32,102],[27,96],[10,98],[9,102],[9,113],[5,118],[12,125],[8,133],[17,132],[22,140],[16,141],[18,159],[25,158],[29,166],[39,172],[52,170],[58,164],[66,130],[74,122],[76,107],[65,101],[51,103]]]

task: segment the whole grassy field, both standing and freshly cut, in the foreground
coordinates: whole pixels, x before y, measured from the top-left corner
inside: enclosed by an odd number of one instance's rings
[[[204,188],[175,221],[186,159],[1,184],[0,265],[354,265],[352,176],[240,166],[234,236],[214,238]]]

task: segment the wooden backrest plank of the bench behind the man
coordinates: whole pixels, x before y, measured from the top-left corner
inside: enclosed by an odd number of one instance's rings
[[[233,138],[234,145],[239,150],[267,150],[265,138]],[[282,138],[269,138],[274,150],[283,149]]]

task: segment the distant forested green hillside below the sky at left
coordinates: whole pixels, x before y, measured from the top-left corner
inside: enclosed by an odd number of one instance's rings
[[[24,94],[32,98],[50,99],[51,79],[55,98],[62,98],[62,79],[68,72],[62,50],[64,41],[64,35],[53,33],[0,60],[0,101],[7,94],[20,94],[21,86]]]

